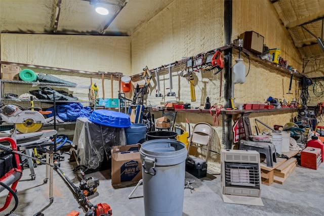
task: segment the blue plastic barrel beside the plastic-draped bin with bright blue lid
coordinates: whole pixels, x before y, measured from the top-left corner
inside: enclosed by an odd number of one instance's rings
[[[146,141],[146,124],[133,124],[125,129],[127,145],[144,143]]]

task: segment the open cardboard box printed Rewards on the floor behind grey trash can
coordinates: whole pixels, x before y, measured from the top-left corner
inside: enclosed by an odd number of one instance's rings
[[[142,179],[140,147],[140,144],[112,147],[111,185],[127,187]]]

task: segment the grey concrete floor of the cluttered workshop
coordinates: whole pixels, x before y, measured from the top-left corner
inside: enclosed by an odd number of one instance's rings
[[[75,162],[69,162],[69,155],[61,161],[61,168],[66,175],[78,185],[80,177],[72,171]],[[80,207],[69,187],[54,170],[54,201],[49,200],[49,184],[44,184],[45,165],[35,168],[36,179],[30,179],[30,170],[23,170],[23,177],[18,183],[17,192],[19,198],[17,215],[34,215],[41,211],[46,216],[65,216],[71,210],[79,211],[79,215],[85,215],[86,211]],[[111,186],[110,169],[93,172],[86,176],[99,178],[98,191],[92,195],[90,201],[93,204],[108,203],[113,215],[117,216],[142,216],[144,215],[143,197],[129,199],[128,196],[134,189],[132,187],[115,189]],[[186,172],[187,181],[195,181],[191,184],[194,191],[184,190],[184,206],[182,215],[324,215],[324,165],[317,170],[308,169],[297,165],[289,179],[283,184],[273,183],[271,186],[262,184],[261,198],[264,206],[240,205],[224,203],[221,198],[220,176],[208,175],[205,178],[196,179]],[[133,197],[143,195],[141,185]],[[0,201],[5,202],[7,191],[0,194]],[[158,194],[157,194],[158,196]],[[12,209],[14,200],[4,212]],[[168,206],[165,206],[168,208]]]

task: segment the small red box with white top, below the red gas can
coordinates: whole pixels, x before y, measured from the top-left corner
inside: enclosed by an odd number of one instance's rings
[[[317,169],[321,163],[321,150],[319,148],[306,147],[301,152],[300,165],[310,169]]]

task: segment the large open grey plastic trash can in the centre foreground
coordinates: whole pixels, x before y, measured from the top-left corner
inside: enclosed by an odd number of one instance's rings
[[[181,216],[187,149],[171,139],[141,145],[145,216]]]

